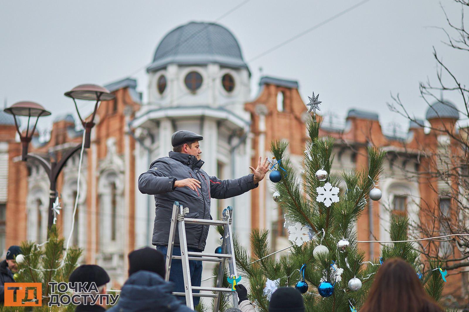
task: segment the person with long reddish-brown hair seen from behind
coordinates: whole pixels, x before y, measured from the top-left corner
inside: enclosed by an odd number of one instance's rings
[[[442,312],[427,295],[413,267],[400,258],[378,269],[360,312]]]

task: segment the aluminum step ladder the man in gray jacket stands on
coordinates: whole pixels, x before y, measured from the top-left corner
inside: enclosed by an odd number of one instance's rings
[[[212,297],[215,298],[215,309],[214,312],[219,311],[219,305],[222,298],[222,293],[227,292],[232,295],[233,306],[238,307],[238,295],[236,291],[232,291],[231,288],[222,288],[223,273],[225,271],[225,265],[228,261],[229,276],[238,276],[236,272],[236,263],[234,260],[234,245],[233,245],[233,232],[231,230],[231,215],[233,208],[228,206],[223,211],[223,220],[205,220],[205,219],[192,219],[186,218],[185,215],[189,213],[189,208],[183,208],[179,205],[179,202],[175,201],[173,204],[173,214],[171,216],[171,228],[169,230],[168,250],[166,253],[166,276],[165,280],[169,281],[169,274],[171,271],[172,259],[180,259],[182,261],[182,273],[184,276],[185,292],[174,292],[173,295],[185,296],[186,305],[194,310],[193,296],[195,297]],[[202,225],[214,225],[223,226],[223,242],[222,242],[222,253],[192,253],[187,251],[187,239],[186,239],[186,223],[202,224]],[[181,256],[173,255],[174,237],[176,235],[176,226],[179,230],[179,244],[181,248]],[[190,283],[190,270],[189,260],[197,261],[214,261],[219,262],[218,276],[217,276],[217,287],[196,287]],[[210,291],[215,293],[193,293],[193,290],[199,291]]]

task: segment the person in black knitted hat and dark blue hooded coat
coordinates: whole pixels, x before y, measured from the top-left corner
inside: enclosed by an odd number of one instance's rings
[[[121,289],[119,301],[108,312],[190,312],[173,296],[174,284],[166,282],[165,257],[145,247],[129,253],[129,279]]]

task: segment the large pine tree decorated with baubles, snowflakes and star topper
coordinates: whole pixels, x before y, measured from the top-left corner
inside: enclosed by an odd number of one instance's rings
[[[314,95],[310,104],[312,109],[318,108]],[[315,113],[307,128],[310,140],[301,173],[295,172],[286,154],[288,143],[271,143],[275,163],[270,179],[278,181],[273,196],[285,212],[285,227],[293,245],[280,257],[271,255],[269,233],[261,229],[251,233],[250,254],[235,243],[238,272],[242,283],[249,283],[249,299],[256,310],[267,312],[272,291],[291,286],[303,293],[308,312],[359,311],[380,264],[393,257],[415,267],[425,290],[438,302],[444,284],[437,269],[441,263],[422,259],[412,242],[383,244],[380,257],[365,259],[357,242],[354,224],[367,209],[370,197],[376,200],[381,195],[375,185],[386,153],[369,147],[367,168],[331,174],[333,138],[319,137]],[[341,180],[346,184],[342,192]],[[408,223],[406,216],[392,215],[392,241],[409,239]]]

